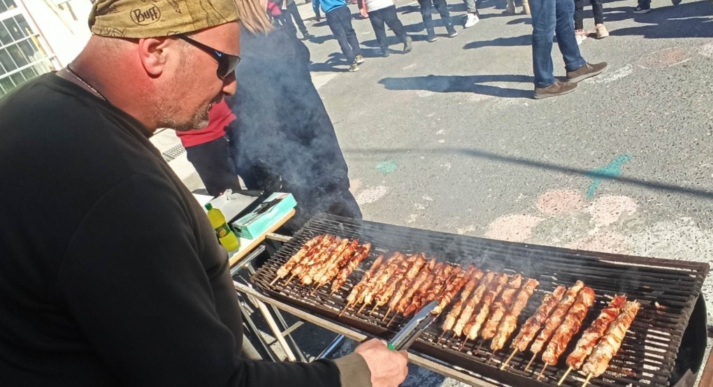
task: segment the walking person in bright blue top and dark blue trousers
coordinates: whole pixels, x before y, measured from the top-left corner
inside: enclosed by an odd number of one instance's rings
[[[327,24],[329,24],[329,29],[332,31],[334,38],[337,39],[339,48],[342,48],[342,53],[347,57],[349,72],[359,71],[359,65],[364,63],[364,56],[361,56],[359,39],[356,38],[356,32],[352,27],[352,12],[349,11],[347,2],[344,0],[312,1],[314,16],[317,20],[321,19],[319,14],[320,7],[324,11],[324,16],[327,17]]]

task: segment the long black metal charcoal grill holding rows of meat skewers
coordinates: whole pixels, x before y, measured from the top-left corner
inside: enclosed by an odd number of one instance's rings
[[[363,242],[371,242],[373,246],[371,257],[361,263],[342,289],[335,294],[329,294],[329,287],[314,292],[313,288],[304,287],[297,281],[285,284],[284,279],[270,285],[277,269],[304,242],[325,233],[358,238]],[[369,267],[377,254],[396,251],[424,252],[441,261],[461,265],[476,264],[484,270],[518,272],[525,277],[537,279],[540,286],[520,315],[518,325],[533,314],[546,293],[560,284],[570,286],[577,280],[585,282],[597,294],[597,302],[588,313],[585,326],[606,306],[609,301],[607,296],[626,294],[629,299],[640,301],[642,309],[622,349],[612,360],[607,373],[592,379],[590,386],[692,386],[694,374],[703,361],[706,313],[700,291],[709,270],[708,264],[502,242],[319,215],[268,259],[250,280],[264,294],[284,304],[318,314],[325,321],[388,339],[399,331],[407,319],[397,316],[387,326],[389,319],[382,321],[386,308],[377,309],[371,314],[370,308],[361,313],[356,310],[349,310],[342,316],[339,313],[344,309],[344,299],[359,282],[364,268]],[[538,357],[530,371],[524,371],[531,355],[525,352],[516,355],[510,365],[501,371],[501,363],[509,355],[509,343],[506,350],[495,354],[488,363],[491,357],[488,343],[481,347],[480,341],[474,341],[467,343],[463,349],[459,349],[461,339],[449,338],[438,343],[441,334],[439,325],[438,321],[433,324],[411,346],[411,350],[445,365],[449,371],[448,376],[458,378],[458,373],[468,373],[488,386],[557,386],[567,368],[563,363],[566,356],[562,356],[560,364],[548,367],[545,378],[538,381],[537,373],[543,363]],[[580,334],[574,337],[573,343]],[[572,349],[570,344],[565,354]],[[537,372],[533,372],[535,370]],[[581,386],[583,380],[584,376],[573,372],[563,386]]]

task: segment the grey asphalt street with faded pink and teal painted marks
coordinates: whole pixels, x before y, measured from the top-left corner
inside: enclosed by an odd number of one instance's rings
[[[438,41],[428,43],[416,1],[397,1],[414,49],[400,53],[388,31],[389,58],[378,56],[369,21],[354,19],[366,63],[347,73],[324,19],[299,5],[316,36],[306,42],[313,80],[364,218],[712,262],[713,2],[655,0],[650,14],[634,14],[635,1],[606,1],[611,36],[580,49],[609,66],[545,100],[532,99],[530,18],[505,6],[481,1],[481,21],[463,29],[465,6],[451,0],[458,36],[434,15]],[[594,30],[590,11],[585,29]],[[555,76],[565,76],[556,44],[553,56]],[[713,279],[704,294],[712,311]],[[308,347],[331,339],[307,332]],[[415,367],[404,383],[459,385]]]

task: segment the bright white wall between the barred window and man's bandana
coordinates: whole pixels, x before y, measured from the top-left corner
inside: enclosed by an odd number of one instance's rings
[[[90,0],[16,0],[24,4],[38,32],[61,66],[84,48],[91,31],[87,25]]]

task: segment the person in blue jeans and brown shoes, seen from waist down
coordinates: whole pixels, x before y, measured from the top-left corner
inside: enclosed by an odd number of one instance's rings
[[[573,17],[575,3],[572,0],[540,0],[530,4],[533,23],[533,72],[535,73],[535,99],[562,96],[577,88],[577,83],[597,76],[607,66],[606,62],[590,65],[582,58]],[[555,79],[552,63],[552,41],[557,34],[567,82]]]

